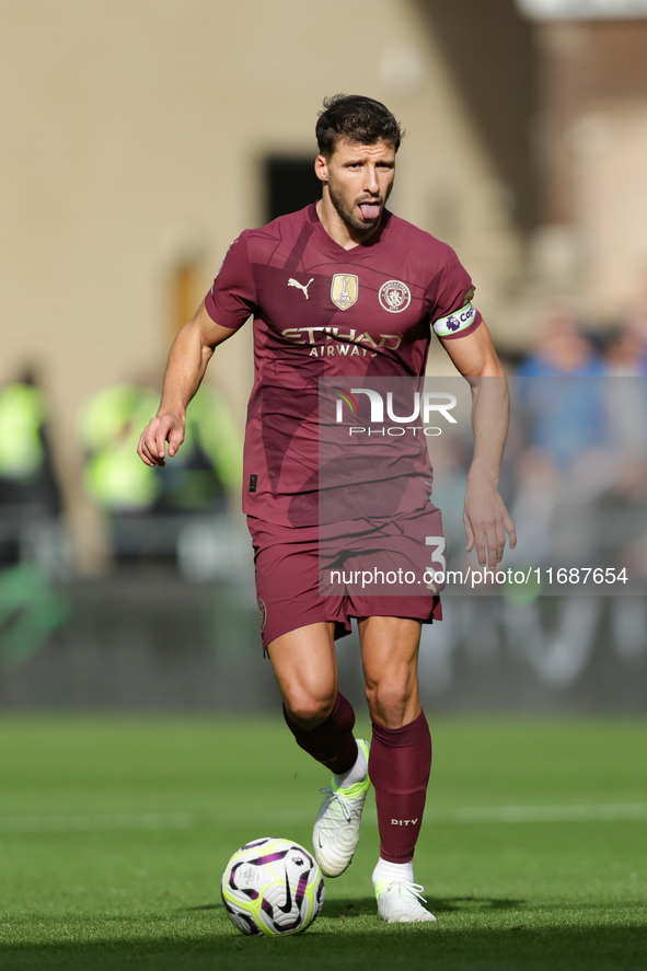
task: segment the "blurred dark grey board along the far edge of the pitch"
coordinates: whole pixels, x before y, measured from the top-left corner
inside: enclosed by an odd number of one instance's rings
[[[279,710],[251,573],[215,586],[130,571],[58,586],[56,602],[33,590],[0,629],[4,709]],[[357,637],[337,652],[363,713]],[[424,628],[420,686],[430,713],[645,713],[647,604],[447,597],[442,623]]]

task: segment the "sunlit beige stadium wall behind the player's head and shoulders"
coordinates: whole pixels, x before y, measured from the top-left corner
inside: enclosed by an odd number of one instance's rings
[[[323,95],[365,92],[402,119],[393,208],[459,248],[496,332],[520,234],[441,43],[414,0],[3,5],[0,382],[39,370],[83,568],[105,537],[81,487],[80,405],[159,384],[185,308],[264,221],[264,160],[314,157]],[[250,328],[210,372],[242,427]]]

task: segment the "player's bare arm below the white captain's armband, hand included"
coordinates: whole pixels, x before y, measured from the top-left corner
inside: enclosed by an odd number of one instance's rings
[[[474,458],[463,512],[466,552],[476,546],[481,566],[493,568],[504,555],[506,532],[510,548],[517,544],[515,525],[498,492],[510,414],[508,382],[484,323],[465,337],[440,339],[472,388]]]

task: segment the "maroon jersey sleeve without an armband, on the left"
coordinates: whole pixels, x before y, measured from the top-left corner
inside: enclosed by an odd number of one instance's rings
[[[221,327],[241,327],[256,310],[256,287],[246,232],[234,240],[226,253],[213,286],[205,297],[211,320]]]

